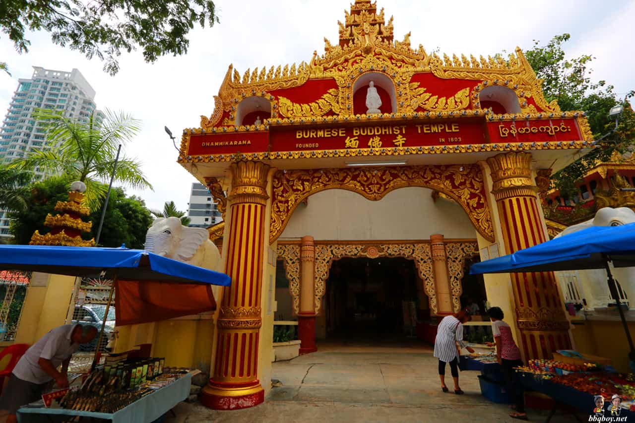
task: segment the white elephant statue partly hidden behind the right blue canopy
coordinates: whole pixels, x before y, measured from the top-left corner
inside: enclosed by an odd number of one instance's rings
[[[596,212],[594,218],[572,225],[560,232],[556,238],[586,229],[591,226],[618,226],[635,222],[635,211],[628,207],[605,207]],[[606,271],[604,269],[585,270],[576,272],[556,272],[563,292],[567,292],[567,278],[573,276],[578,279],[578,286],[582,288],[582,298],[587,301],[587,308],[603,308],[608,302],[612,302],[609,297],[608,284],[606,283]],[[627,297],[635,298],[635,267],[622,267],[613,271],[613,276],[622,286],[622,290]],[[629,304],[630,305],[630,304]]]

